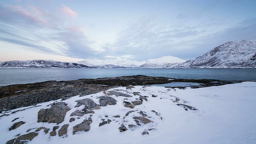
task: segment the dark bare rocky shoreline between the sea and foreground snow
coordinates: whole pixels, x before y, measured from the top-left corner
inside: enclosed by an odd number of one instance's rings
[[[201,88],[208,86],[220,86],[224,84],[238,83],[242,81],[220,81],[220,80],[193,80],[175,79],[152,76],[121,76],[115,78],[79,79],[70,81],[46,81],[32,84],[15,84],[0,87],[0,113],[16,108],[32,106],[42,102],[66,99],[72,96],[85,96],[105,91],[119,86],[136,86],[167,84],[170,82],[197,82]],[[184,88],[184,87],[170,87]]]

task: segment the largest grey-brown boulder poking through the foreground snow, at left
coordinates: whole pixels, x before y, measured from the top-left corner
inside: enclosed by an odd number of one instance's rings
[[[65,102],[57,102],[56,104],[52,104],[51,108],[39,110],[37,122],[60,124],[64,121],[66,112],[69,110],[70,108]]]

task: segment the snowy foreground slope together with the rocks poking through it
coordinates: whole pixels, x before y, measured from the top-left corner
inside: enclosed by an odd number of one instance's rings
[[[256,82],[130,86],[0,114],[1,144],[254,144]]]

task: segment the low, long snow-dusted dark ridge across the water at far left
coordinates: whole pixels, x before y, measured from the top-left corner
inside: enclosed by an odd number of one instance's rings
[[[90,68],[84,64],[54,60],[26,60],[0,62],[0,68]]]

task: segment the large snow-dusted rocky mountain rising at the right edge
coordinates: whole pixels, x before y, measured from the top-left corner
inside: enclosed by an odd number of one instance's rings
[[[195,60],[164,68],[256,68],[256,40],[226,42]]]

